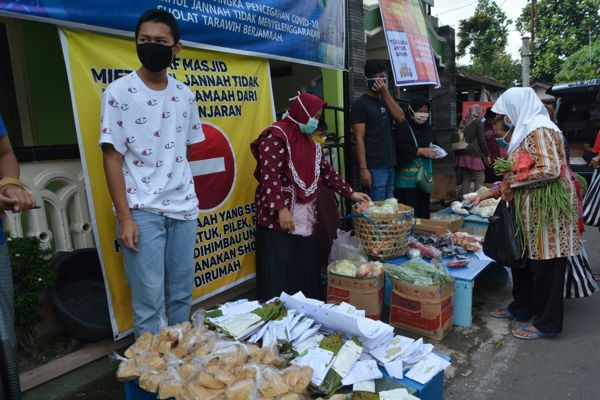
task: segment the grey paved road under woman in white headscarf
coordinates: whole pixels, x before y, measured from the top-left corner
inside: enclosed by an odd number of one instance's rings
[[[600,233],[590,230],[585,239],[592,269],[600,272]],[[475,344],[458,353],[445,398],[600,399],[600,293],[566,301],[563,333],[534,341],[514,339],[506,322],[486,316],[503,300],[510,300],[507,288],[476,292],[477,326],[463,332]]]

